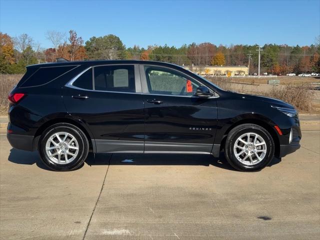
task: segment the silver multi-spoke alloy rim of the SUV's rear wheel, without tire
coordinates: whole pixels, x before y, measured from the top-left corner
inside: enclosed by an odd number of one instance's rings
[[[56,132],[46,141],[45,152],[57,164],[67,164],[75,159],[79,151],[76,138],[68,132]]]

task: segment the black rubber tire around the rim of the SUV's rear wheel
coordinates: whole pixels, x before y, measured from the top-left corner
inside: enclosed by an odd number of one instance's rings
[[[78,152],[69,163],[58,164],[52,161],[45,150],[48,138],[56,132],[67,132],[72,134],[78,143]],[[89,151],[89,142],[83,131],[69,123],[56,123],[45,129],[39,139],[38,151],[43,163],[55,171],[70,171],[77,169],[86,159]]]

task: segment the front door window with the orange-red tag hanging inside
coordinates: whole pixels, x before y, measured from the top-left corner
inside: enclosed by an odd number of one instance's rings
[[[200,83],[162,67],[144,66],[149,93],[193,96]]]

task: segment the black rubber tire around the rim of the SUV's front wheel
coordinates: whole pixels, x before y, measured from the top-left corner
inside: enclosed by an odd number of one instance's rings
[[[235,156],[235,153],[233,151],[233,146],[238,137],[240,137],[244,133],[248,132],[253,132],[257,133],[259,136],[263,138],[265,141],[266,145],[266,153],[262,160],[260,162],[257,162],[256,164],[252,165],[247,165],[241,163]],[[273,158],[274,155],[274,142],[273,138],[270,135],[270,133],[265,130],[263,127],[256,125],[256,124],[251,124],[251,123],[246,123],[246,124],[241,124],[233,129],[230,130],[228,133],[226,140],[225,140],[225,146],[224,146],[224,155],[228,163],[235,169],[239,171],[258,171],[267,166],[270,161]]]

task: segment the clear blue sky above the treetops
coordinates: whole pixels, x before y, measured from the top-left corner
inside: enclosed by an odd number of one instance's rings
[[[115,34],[127,47],[205,41],[309,45],[320,35],[320,0],[0,0],[0,31],[10,36],[27,33],[50,47],[46,31],[69,29],[84,41]]]

